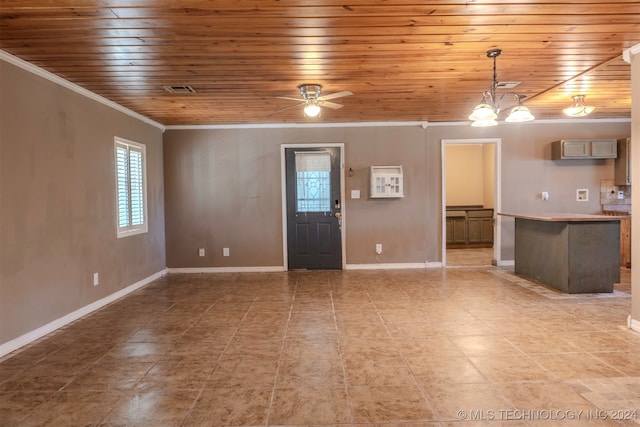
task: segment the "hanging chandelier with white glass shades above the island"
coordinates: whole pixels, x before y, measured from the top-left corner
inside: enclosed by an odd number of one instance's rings
[[[496,58],[500,56],[501,53],[502,50],[500,49],[491,49],[487,52],[487,58],[493,59],[493,80],[491,82],[491,88],[482,93],[482,102],[476,105],[471,115],[469,115],[469,120],[472,121],[471,126],[473,127],[496,126],[498,124],[496,119],[498,118],[498,114],[500,114],[500,103],[507,95],[514,96],[518,105],[511,109],[509,116],[505,119],[506,122],[520,123],[535,119],[531,111],[522,104],[522,100],[525,98],[524,95],[507,92],[502,94],[500,98],[497,98],[496,89],[502,86],[497,80]]]

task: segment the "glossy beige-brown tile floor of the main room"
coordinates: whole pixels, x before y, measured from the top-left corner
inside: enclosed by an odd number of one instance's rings
[[[171,274],[5,356],[0,425],[638,426],[622,282],[560,298],[494,267]]]

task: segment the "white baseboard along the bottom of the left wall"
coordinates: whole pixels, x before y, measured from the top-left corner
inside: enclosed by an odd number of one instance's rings
[[[149,283],[153,282],[154,280],[159,279],[160,277],[164,276],[167,274],[167,269],[163,269],[157,273],[152,274],[149,277],[146,277],[130,286],[127,286],[124,289],[119,290],[118,292],[114,292],[113,294],[106,296],[102,299],[99,299],[97,301],[92,302],[89,305],[86,305],[76,311],[73,311],[65,316],[62,316],[59,319],[56,319],[52,322],[47,323],[44,326],[39,327],[38,329],[34,329],[31,332],[27,332],[24,335],[19,336],[18,338],[15,338],[11,341],[8,341],[2,345],[0,345],[0,357],[5,356],[9,353],[11,353],[12,351],[15,351],[17,349],[19,349],[20,347],[23,347],[27,344],[32,343],[33,341],[42,338],[43,336],[50,334],[51,332],[55,331],[56,329],[60,329],[61,327],[68,325],[69,323],[80,319],[83,316],[86,316],[87,314],[90,314],[102,307],[104,307],[107,304],[110,304],[114,301],[116,301],[117,299],[122,298],[123,296],[130,294],[131,292],[140,289],[141,287],[148,285]]]

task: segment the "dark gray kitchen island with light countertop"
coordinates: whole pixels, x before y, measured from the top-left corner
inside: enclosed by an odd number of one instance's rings
[[[515,272],[569,294],[613,292],[620,281],[620,217],[515,218]]]

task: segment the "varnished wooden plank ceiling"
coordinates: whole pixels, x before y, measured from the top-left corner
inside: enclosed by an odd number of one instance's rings
[[[629,0],[0,0],[1,49],[164,125],[467,121],[494,48],[536,118],[628,118],[637,43]],[[281,110],[302,83],[353,95]]]

